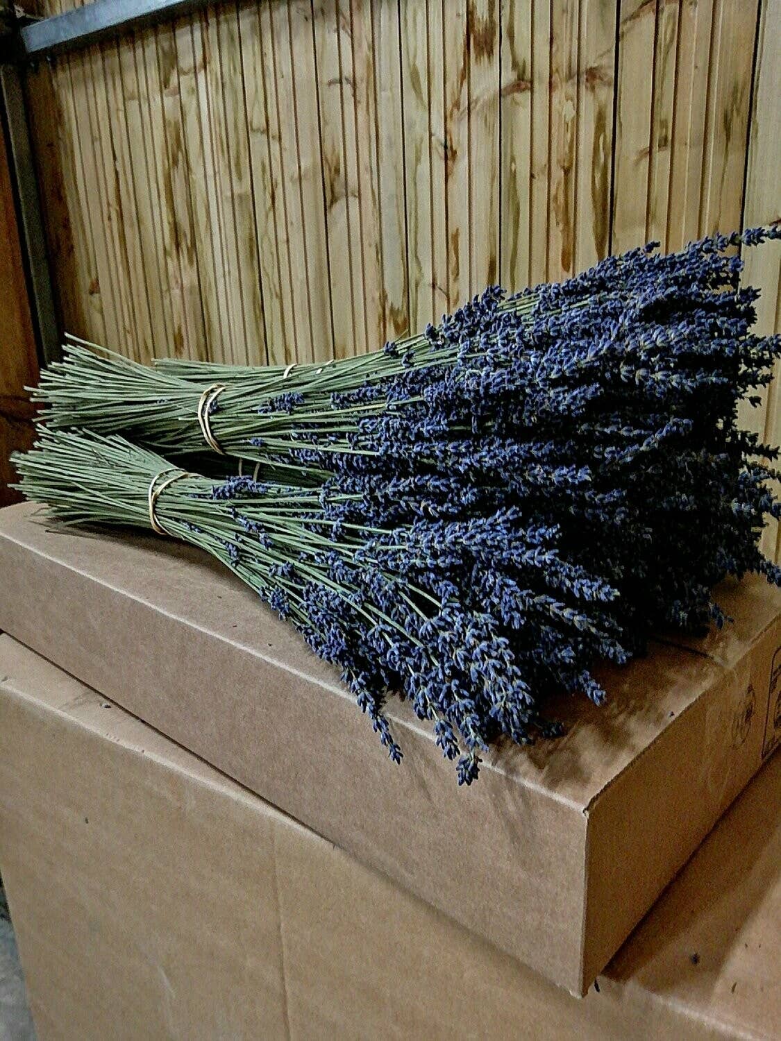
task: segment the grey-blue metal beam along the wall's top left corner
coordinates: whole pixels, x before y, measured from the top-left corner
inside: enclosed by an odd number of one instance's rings
[[[74,7],[21,28],[21,56],[44,57],[85,47],[98,40],[118,36],[144,25],[170,21],[205,7],[208,2],[209,0],[94,0],[83,7]]]

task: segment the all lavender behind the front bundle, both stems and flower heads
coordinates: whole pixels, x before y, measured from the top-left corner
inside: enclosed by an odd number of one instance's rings
[[[620,591],[622,641],[637,651],[656,626],[722,621],[710,590],[725,575],[781,579],[758,550],[780,512],[777,451],[736,420],[781,346],[752,335],[756,293],[729,252],[778,234],[646,247],[510,301],[495,287],[422,337],[332,366],[206,366],[217,397],[203,366],[152,372],[77,349],[39,400],[51,426],[127,432],[182,464],[228,450],[324,483],[330,520],[445,529],[519,509]]]

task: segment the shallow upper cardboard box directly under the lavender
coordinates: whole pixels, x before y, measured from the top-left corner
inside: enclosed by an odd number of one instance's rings
[[[606,707],[562,704],[563,738],[503,746],[459,789],[402,703],[389,763],[334,670],[200,553],[32,514],[0,512],[0,629],[575,993],[772,744],[762,581],[722,591],[716,644],[659,643],[606,676]]]

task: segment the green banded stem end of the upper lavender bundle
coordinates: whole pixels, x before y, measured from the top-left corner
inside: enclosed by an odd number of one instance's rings
[[[492,296],[489,321],[531,312],[532,297]],[[437,342],[426,333],[385,345],[381,351],[324,364],[242,369],[158,361],[151,369],[70,337],[64,360],[42,373],[33,400],[50,406],[52,429],[81,427],[123,433],[168,454],[200,455],[204,449],[268,463],[271,456],[306,474],[297,452],[316,443],[327,454],[373,455],[371,445],[354,443],[361,426],[381,415],[405,414],[423,399],[403,389],[405,377],[426,370],[447,371],[468,337],[483,330],[488,316],[479,300],[443,320],[449,330]],[[203,380],[197,376],[203,369]],[[223,380],[224,377],[224,380]]]

